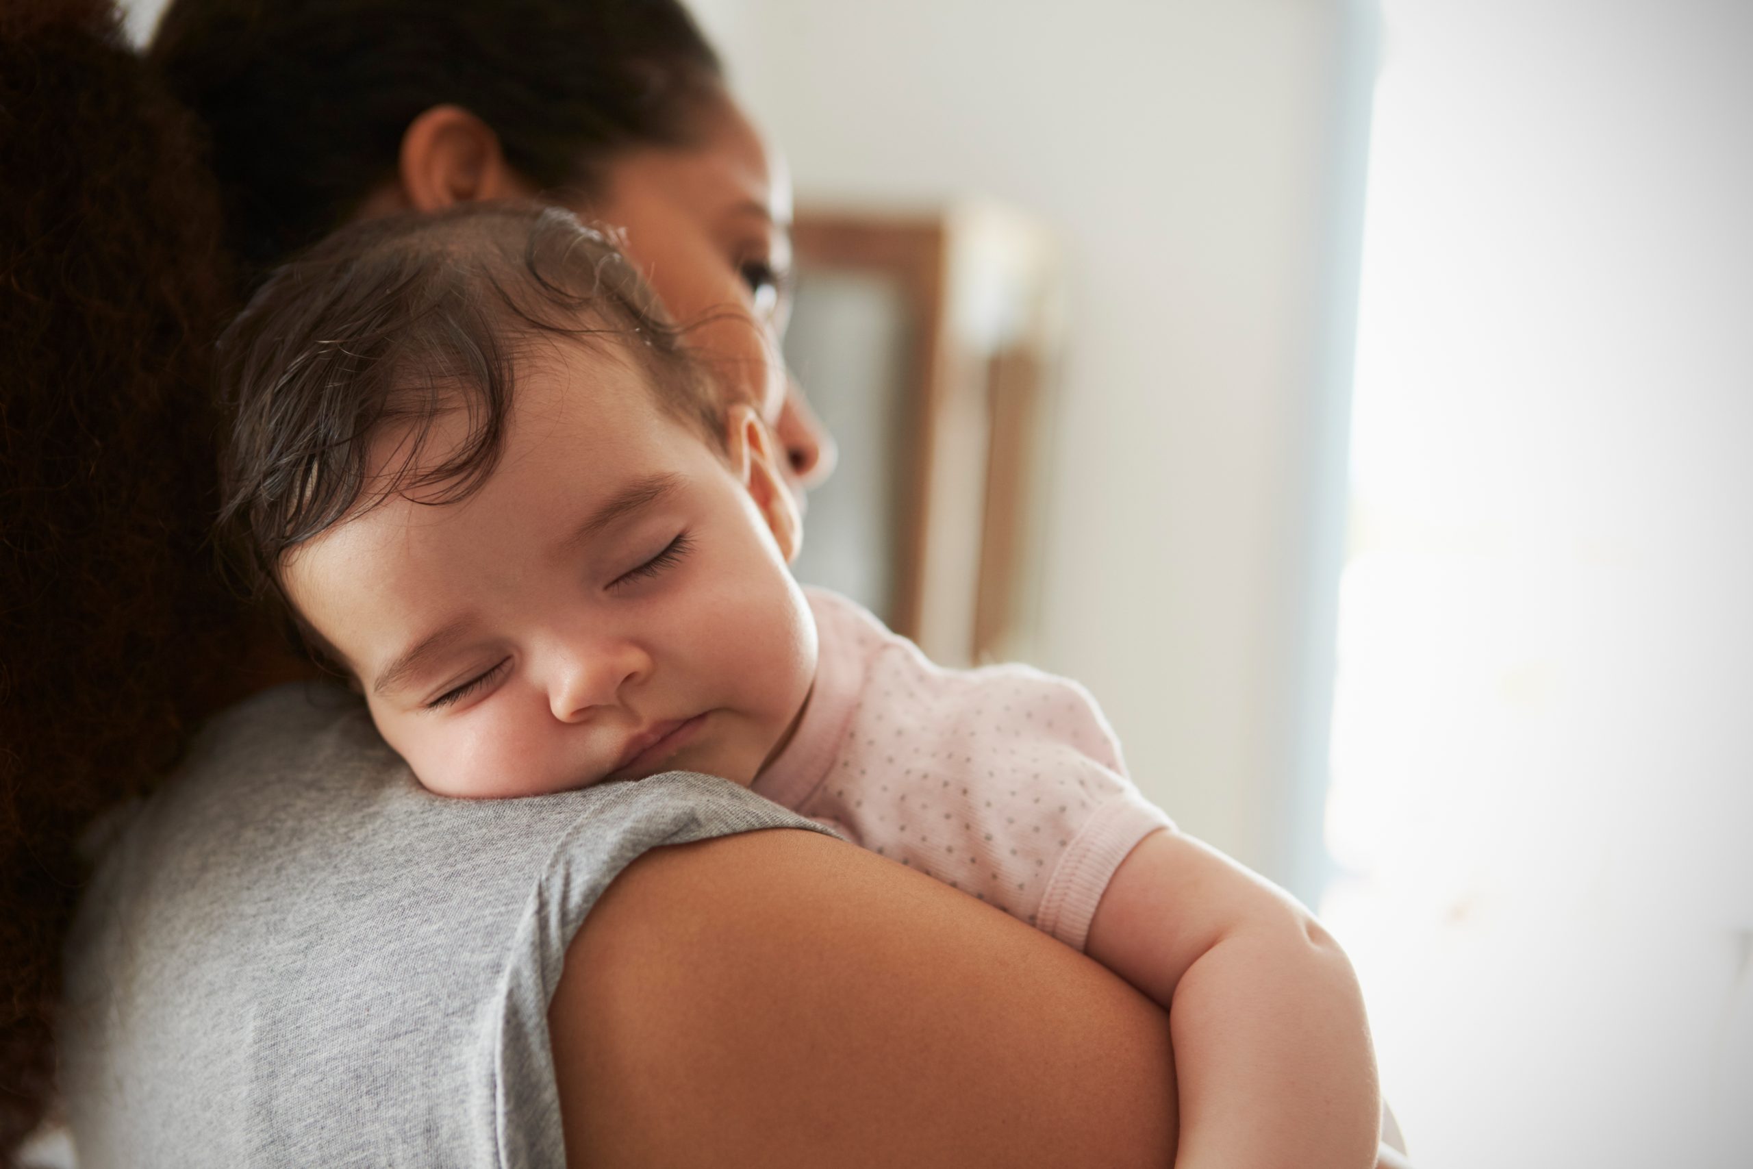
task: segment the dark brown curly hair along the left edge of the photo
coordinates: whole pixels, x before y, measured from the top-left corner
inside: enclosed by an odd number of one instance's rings
[[[209,351],[226,273],[184,112],[110,0],[0,7],[0,1162],[49,1101],[105,806],[228,698]]]

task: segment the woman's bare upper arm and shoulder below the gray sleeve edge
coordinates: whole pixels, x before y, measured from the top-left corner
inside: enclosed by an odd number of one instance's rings
[[[550,1008],[568,1164],[1167,1165],[1167,1018],[1083,955],[806,832],[659,848]]]

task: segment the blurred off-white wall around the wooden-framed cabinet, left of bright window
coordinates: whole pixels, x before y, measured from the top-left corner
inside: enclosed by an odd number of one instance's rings
[[[1183,827],[1283,871],[1338,0],[699,0],[801,200],[1068,244],[1040,664]],[[1318,831],[1318,825],[1306,825]]]

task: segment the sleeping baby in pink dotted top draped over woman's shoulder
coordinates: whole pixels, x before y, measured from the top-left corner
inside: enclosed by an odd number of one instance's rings
[[[351,228],[223,342],[223,528],[433,792],[750,785],[1169,1010],[1183,1167],[1374,1164],[1352,969],[1180,834],[1094,701],[805,592],[773,440],[559,210]]]

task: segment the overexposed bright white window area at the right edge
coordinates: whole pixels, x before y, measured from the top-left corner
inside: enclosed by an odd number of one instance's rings
[[[1322,913],[1416,1165],[1749,1165],[1753,5],[1383,18]]]

